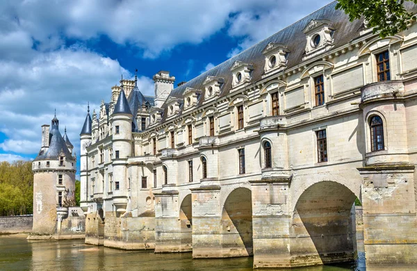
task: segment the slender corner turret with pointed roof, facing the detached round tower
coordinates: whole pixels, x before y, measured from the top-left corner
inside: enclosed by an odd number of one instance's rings
[[[87,204],[87,170],[88,170],[88,163],[87,163],[87,147],[91,145],[91,117],[90,117],[90,105],[87,107],[87,115],[85,116],[85,121],[83,125],[83,129],[80,133],[80,140],[81,140],[81,153],[80,153],[80,184],[81,184],[81,191],[80,191],[80,207],[84,213],[87,212],[88,204]]]

